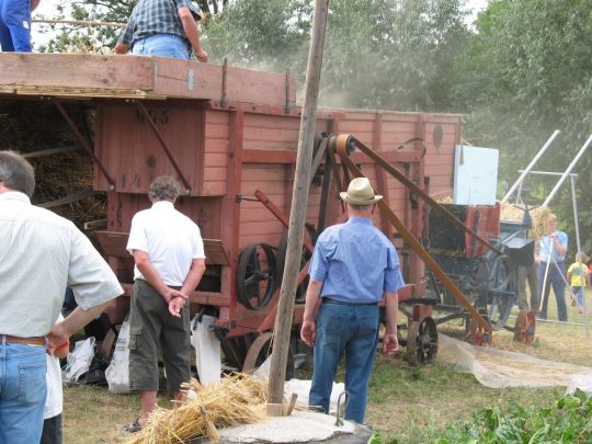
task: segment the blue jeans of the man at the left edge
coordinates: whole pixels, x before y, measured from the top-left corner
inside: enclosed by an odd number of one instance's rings
[[[38,443],[47,384],[45,348],[0,343],[0,443]]]

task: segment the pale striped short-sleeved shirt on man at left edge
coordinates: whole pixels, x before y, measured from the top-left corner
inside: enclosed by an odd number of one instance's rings
[[[31,205],[23,193],[0,194],[0,333],[47,334],[67,286],[84,310],[123,294],[109,264],[70,220]]]

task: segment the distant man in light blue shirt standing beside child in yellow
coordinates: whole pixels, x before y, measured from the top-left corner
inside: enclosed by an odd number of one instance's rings
[[[550,287],[557,299],[557,316],[560,321],[567,321],[566,305],[566,258],[568,236],[557,229],[557,216],[550,214],[547,218],[546,235],[538,241],[538,300],[543,301],[540,319],[547,319],[547,304]]]

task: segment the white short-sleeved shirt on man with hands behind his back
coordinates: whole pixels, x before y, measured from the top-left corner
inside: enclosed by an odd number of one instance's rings
[[[160,278],[170,286],[181,286],[194,259],[205,259],[200,228],[171,202],[157,202],[149,209],[137,213],[132,219],[127,241],[134,250],[148,253],[150,263]],[[137,266],[134,278],[144,278]]]

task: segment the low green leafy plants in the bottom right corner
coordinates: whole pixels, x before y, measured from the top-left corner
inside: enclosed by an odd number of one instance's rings
[[[592,398],[581,390],[557,399],[553,407],[508,410],[487,408],[473,422],[449,424],[436,444],[588,443],[592,440]]]

